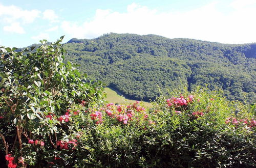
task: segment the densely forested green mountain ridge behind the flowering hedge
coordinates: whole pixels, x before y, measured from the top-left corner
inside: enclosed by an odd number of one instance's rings
[[[123,95],[150,100],[166,88],[208,84],[230,100],[255,101],[256,43],[221,44],[156,35],[106,34],[71,39],[66,60]]]

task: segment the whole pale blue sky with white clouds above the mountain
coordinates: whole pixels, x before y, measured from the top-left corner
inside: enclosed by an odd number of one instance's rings
[[[0,45],[155,34],[242,44],[256,42],[256,0],[0,0]]]

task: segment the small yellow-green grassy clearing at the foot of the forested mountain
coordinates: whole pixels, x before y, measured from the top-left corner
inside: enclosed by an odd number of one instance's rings
[[[131,99],[127,99],[121,95],[119,95],[116,91],[110,89],[110,88],[105,88],[104,90],[106,92],[106,101],[108,102],[112,102],[112,103],[118,103],[118,104],[130,104],[130,103],[134,103],[136,100],[131,100]],[[146,107],[151,107],[151,103],[149,102],[145,102],[145,101],[141,101],[141,103],[146,106]]]

